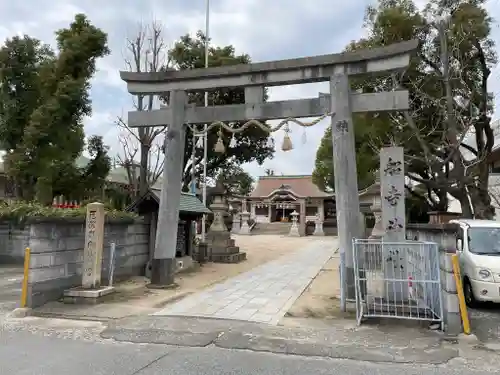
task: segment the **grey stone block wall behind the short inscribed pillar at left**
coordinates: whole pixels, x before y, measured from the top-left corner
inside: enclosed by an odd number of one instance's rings
[[[28,306],[59,299],[63,291],[81,285],[85,222],[33,221],[22,232],[23,249],[31,249]],[[21,242],[21,238],[17,240]],[[149,260],[149,225],[141,220],[106,220],[102,262],[107,283],[110,245],[116,244],[114,279],[143,275]],[[18,252],[18,248],[14,248]]]

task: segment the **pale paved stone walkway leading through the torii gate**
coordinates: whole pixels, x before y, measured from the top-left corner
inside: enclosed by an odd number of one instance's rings
[[[335,237],[311,239],[301,250],[176,302],[154,315],[198,316],[278,324],[337,249]]]

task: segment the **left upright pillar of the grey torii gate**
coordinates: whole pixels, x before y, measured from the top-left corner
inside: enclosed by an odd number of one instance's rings
[[[151,264],[150,287],[168,287],[174,284],[175,251],[179,225],[182,164],[185,129],[184,110],[186,93],[170,92],[172,122],[165,135],[165,164],[163,167],[160,210],[156,231],[155,252]]]

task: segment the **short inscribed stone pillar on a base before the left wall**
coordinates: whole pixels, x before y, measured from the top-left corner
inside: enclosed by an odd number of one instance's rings
[[[112,286],[101,286],[104,217],[102,203],[96,202],[87,205],[82,286],[64,291],[63,300],[66,303],[94,304],[99,302],[101,297],[114,291]]]

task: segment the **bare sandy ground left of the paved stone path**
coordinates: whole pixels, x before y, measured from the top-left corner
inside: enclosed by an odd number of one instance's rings
[[[150,290],[146,288],[148,280],[137,277],[116,284],[117,292],[110,295],[105,303],[95,306],[73,306],[52,302],[36,309],[35,313],[42,316],[106,320],[152,314],[170,306],[172,303],[189,298],[206,288],[223,283],[230,278],[266,265],[278,258],[287,259],[295,253],[303,251],[310,244],[327,243],[330,244],[332,249],[336,246],[335,237],[308,236],[297,238],[282,235],[233,235],[232,238],[236,240],[236,245],[240,247],[241,251],[247,253],[246,261],[238,264],[207,263],[198,270],[180,273],[176,275],[176,283],[179,285],[176,289]],[[314,259],[315,253],[311,252],[310,256]],[[320,263],[324,264],[326,261],[327,259],[325,261],[321,260]],[[303,266],[305,266],[304,263]],[[319,272],[321,266],[317,266],[316,273]],[[270,272],[274,272],[272,268]]]

